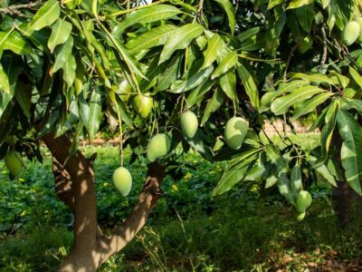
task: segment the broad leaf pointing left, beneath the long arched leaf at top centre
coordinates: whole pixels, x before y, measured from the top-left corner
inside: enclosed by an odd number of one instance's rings
[[[129,48],[130,53],[138,53],[141,50],[148,50],[149,48],[163,45],[167,39],[177,27],[172,24],[165,24],[155,28],[152,28],[145,34],[141,34],[138,37],[129,41],[126,46]]]

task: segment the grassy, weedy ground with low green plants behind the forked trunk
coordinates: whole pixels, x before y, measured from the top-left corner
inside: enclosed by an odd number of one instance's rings
[[[117,148],[84,150],[98,153],[99,220],[107,231],[136,201],[146,161],[129,167],[134,188],[126,199],[111,183]],[[0,271],[55,271],[71,247],[72,217],[55,197],[45,155],[43,165],[27,162],[13,181],[0,163]],[[186,163],[191,168],[177,170],[179,180],[167,176],[147,227],[100,271],[362,271],[361,212],[340,228],[322,180],[312,185],[313,204],[297,222],[275,189],[261,194],[255,182],[212,199],[223,165],[195,153],[186,155]]]

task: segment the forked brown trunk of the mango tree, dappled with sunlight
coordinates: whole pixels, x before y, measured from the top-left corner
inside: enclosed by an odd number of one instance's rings
[[[75,218],[73,246],[59,271],[96,271],[110,256],[124,248],[145,225],[161,195],[160,185],[165,168],[158,162],[148,165],[148,176],[138,203],[129,218],[114,229],[110,237],[105,237],[97,222],[94,159],[86,159],[80,151],[68,158],[71,141],[66,136],[54,139],[49,134],[43,137],[43,141],[52,152],[57,196],[71,209]]]

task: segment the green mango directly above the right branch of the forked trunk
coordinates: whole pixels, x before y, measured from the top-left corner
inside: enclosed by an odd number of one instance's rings
[[[164,133],[159,133],[151,138],[148,144],[147,158],[150,162],[165,156],[171,147],[171,140]]]

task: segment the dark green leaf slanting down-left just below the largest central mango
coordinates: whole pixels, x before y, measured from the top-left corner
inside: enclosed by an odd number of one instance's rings
[[[259,154],[257,152],[246,151],[242,153],[238,158],[241,162],[234,165],[233,168],[228,167],[224,170],[223,175],[213,190],[213,196],[223,194],[229,189],[232,189],[235,184],[242,181],[252,169],[258,157]]]

